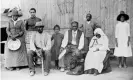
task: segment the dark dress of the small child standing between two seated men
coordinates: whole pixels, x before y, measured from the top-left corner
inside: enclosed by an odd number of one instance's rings
[[[63,34],[61,33],[55,33],[52,35],[51,40],[54,40],[54,44],[51,48],[51,53],[52,53],[52,60],[58,60],[58,56],[60,54],[60,48],[61,48],[61,43],[63,40]]]

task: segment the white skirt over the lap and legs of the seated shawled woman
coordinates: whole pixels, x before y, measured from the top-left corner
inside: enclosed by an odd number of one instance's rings
[[[97,69],[99,73],[101,73],[105,57],[106,57],[106,51],[97,51],[97,52],[89,51],[85,58],[84,69],[89,70],[94,68]]]

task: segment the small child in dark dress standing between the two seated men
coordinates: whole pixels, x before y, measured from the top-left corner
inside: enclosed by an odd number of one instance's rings
[[[51,59],[52,59],[52,61],[55,61],[56,69],[59,69],[58,57],[60,54],[60,47],[61,47],[61,43],[62,43],[64,36],[63,36],[63,34],[59,33],[59,31],[60,31],[59,25],[55,25],[53,30],[54,30],[54,34],[52,35],[51,40],[54,40],[54,44],[53,44],[52,49],[51,49],[51,53],[52,53]]]

